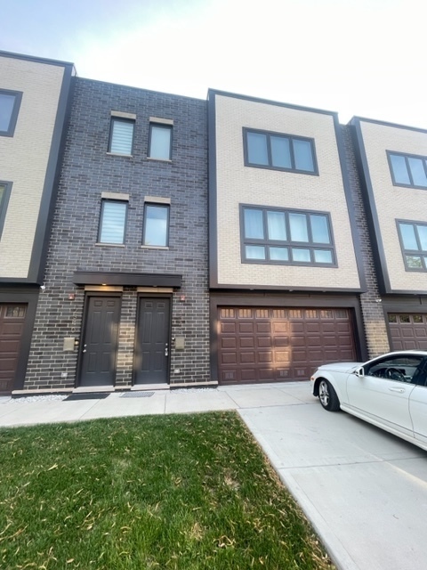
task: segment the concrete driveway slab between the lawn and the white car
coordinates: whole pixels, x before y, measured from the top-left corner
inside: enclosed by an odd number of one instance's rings
[[[311,398],[239,412],[338,568],[425,570],[427,452]]]

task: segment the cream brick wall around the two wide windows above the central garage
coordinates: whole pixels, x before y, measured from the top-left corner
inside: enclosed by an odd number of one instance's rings
[[[218,281],[278,287],[360,286],[332,116],[216,96]],[[319,175],[244,166],[243,126],[315,140]],[[326,211],[337,268],[242,264],[239,203]]]

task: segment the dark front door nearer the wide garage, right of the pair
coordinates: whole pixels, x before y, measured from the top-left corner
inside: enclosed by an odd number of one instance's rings
[[[170,298],[140,297],[135,347],[135,384],[168,379]]]

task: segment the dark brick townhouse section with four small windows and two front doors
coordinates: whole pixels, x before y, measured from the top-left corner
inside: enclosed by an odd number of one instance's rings
[[[209,382],[205,102],[76,77],[25,389]]]

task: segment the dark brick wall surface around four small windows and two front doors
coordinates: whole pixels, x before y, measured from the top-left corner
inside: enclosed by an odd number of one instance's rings
[[[136,115],[133,156],[107,152],[111,111]],[[185,348],[172,348],[170,384],[209,380],[205,115],[204,101],[76,79],[26,389],[77,385],[79,348],[63,350],[64,338],[82,335],[85,288],[73,283],[76,271],[181,274],[172,337],[184,337]],[[171,161],[147,158],[150,117],[173,120]],[[129,194],[125,246],[97,244],[106,191]],[[169,248],[141,248],[146,196],[170,199]],[[130,387],[136,287],[124,287],[121,296],[116,387]]]

